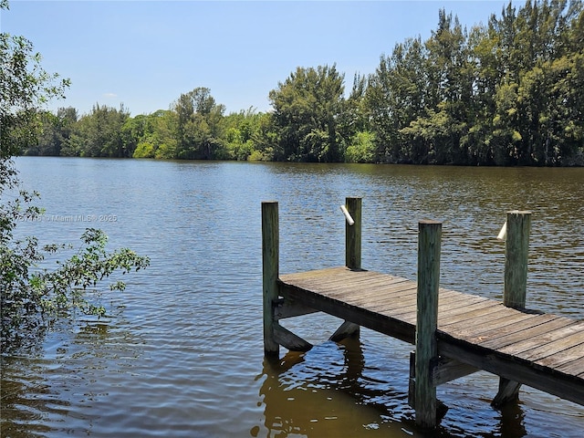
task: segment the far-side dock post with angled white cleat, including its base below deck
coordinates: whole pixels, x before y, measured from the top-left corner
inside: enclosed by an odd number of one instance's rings
[[[349,224],[349,220],[345,222],[345,266],[355,271],[361,269],[361,205],[361,198],[345,198],[345,208],[353,220],[352,224]],[[359,335],[359,325],[345,321],[328,340],[339,342],[349,336],[359,338]]]

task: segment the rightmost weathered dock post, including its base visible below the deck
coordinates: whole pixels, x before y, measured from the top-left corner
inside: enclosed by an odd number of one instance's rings
[[[505,238],[505,286],[503,304],[507,308],[523,309],[527,297],[527,253],[529,250],[529,232],[531,230],[531,212],[513,210],[507,212]],[[519,395],[521,383],[499,378],[499,391],[491,404],[502,406],[507,401],[514,401]]]

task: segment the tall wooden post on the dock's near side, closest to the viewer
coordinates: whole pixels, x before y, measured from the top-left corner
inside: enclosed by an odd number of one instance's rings
[[[438,289],[440,287],[440,245],[442,223],[421,221],[418,224],[418,292],[416,315],[416,353],[414,409],[416,424],[422,428],[436,426],[436,387],[432,367],[438,358]]]

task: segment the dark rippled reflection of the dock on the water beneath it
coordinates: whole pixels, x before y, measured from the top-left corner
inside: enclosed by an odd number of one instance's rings
[[[383,371],[389,370],[367,364],[364,347],[359,339],[345,339],[338,344],[328,341],[308,353],[287,352],[280,360],[264,360],[263,373],[257,377],[262,381],[259,395],[264,422],[255,425],[250,434],[352,437],[367,433],[428,438],[521,438],[528,434],[521,403],[510,403],[495,411],[489,405],[490,399],[476,398],[476,394],[463,388],[453,391],[456,384],[441,390],[441,397],[454,408],[443,424],[429,434],[417,430],[413,411],[407,406],[407,374],[387,372],[390,380],[380,380],[380,375],[386,374]],[[391,354],[377,353],[381,357]],[[480,391],[484,381],[479,377],[477,382]],[[467,387],[468,382],[461,386]],[[495,391],[495,386],[492,389]],[[476,405],[469,402],[473,398]],[[486,417],[492,417],[492,421]]]

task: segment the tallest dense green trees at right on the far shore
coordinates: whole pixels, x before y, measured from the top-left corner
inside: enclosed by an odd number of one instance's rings
[[[509,4],[470,32],[442,11],[425,43],[397,45],[370,82],[378,156],[584,163],[583,32],[580,2],[527,2],[518,12]]]

